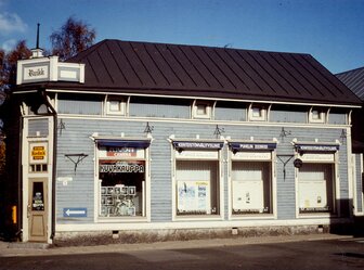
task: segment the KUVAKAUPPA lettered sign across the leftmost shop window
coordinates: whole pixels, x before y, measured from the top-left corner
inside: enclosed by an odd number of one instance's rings
[[[144,172],[145,165],[141,162],[100,160],[99,171],[102,172]]]

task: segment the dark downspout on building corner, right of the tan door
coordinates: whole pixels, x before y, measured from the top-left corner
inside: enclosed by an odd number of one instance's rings
[[[47,107],[51,111],[51,115],[53,116],[53,168],[52,168],[52,227],[51,227],[51,240],[54,239],[55,234],[55,178],[56,178],[56,144],[57,144],[57,114],[52,104],[49,102],[47,98],[46,89],[41,90],[41,94],[43,97],[43,101]]]

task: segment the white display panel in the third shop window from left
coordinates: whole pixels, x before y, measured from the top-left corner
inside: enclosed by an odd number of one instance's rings
[[[263,213],[263,180],[233,181],[233,213]]]

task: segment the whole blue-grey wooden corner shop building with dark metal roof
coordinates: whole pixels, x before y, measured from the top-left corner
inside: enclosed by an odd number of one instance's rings
[[[12,99],[24,242],[313,231],[363,214],[361,101],[310,54],[104,40],[60,62],[36,50]]]

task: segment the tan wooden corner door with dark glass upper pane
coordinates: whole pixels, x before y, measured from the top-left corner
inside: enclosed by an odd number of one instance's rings
[[[30,242],[47,242],[47,178],[29,179],[28,222]]]

